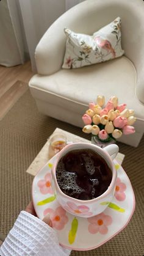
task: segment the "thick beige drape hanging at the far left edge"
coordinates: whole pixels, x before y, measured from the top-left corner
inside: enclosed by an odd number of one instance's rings
[[[0,1],[0,65],[23,64],[24,45],[15,0]]]

